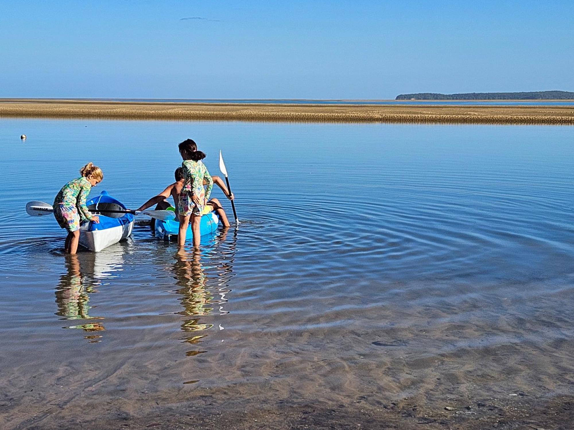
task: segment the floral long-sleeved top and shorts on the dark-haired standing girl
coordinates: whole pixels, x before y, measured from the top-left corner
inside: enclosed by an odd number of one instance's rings
[[[178,212],[184,216],[192,213],[201,215],[203,205],[198,207],[191,198],[197,195],[202,202],[204,199],[210,198],[214,181],[211,179],[207,167],[201,161],[185,160],[181,163],[181,167],[183,167],[184,181],[179,202],[177,202]],[[207,190],[203,189],[203,179],[207,182]]]

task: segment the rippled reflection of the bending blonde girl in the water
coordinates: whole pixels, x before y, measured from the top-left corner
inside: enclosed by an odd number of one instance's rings
[[[58,305],[56,315],[63,316],[63,319],[94,319],[88,315],[88,310],[90,310],[88,293],[92,292],[92,289],[90,286],[85,286],[77,255],[72,254],[67,257],[66,268],[67,272],[60,276],[60,282],[56,287]],[[87,332],[105,330],[101,323],[88,323],[66,328],[82,329]]]

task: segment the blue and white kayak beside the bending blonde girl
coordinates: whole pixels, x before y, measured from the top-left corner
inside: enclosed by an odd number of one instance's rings
[[[106,191],[102,191],[98,197],[89,200],[88,209],[127,210],[118,200],[111,197]],[[131,213],[99,214],[100,222],[84,222],[80,226],[80,245],[90,251],[102,251],[131,234],[134,226],[134,216]]]

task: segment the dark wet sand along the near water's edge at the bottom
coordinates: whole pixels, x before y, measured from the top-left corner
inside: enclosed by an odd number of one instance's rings
[[[208,403],[210,399],[201,402]],[[373,408],[356,400],[354,404],[326,407],[321,404],[282,406],[276,409],[223,411],[214,406],[156,408],[146,417],[118,412],[114,417],[96,420],[53,420],[49,411],[18,428],[27,429],[532,429],[569,430],[574,422],[573,397],[550,401],[494,400],[462,402],[465,406],[451,410],[433,409],[425,404],[402,400]],[[453,404],[453,403],[451,403]],[[35,421],[38,421],[36,424]]]

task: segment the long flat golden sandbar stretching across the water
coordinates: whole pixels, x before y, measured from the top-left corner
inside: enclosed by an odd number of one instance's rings
[[[567,125],[574,124],[574,108],[0,99],[0,117]]]

